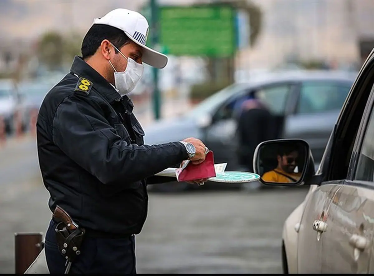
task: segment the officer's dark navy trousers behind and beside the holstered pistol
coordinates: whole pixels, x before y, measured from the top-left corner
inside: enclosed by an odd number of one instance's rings
[[[45,254],[50,274],[65,272],[65,258],[58,251],[56,223],[51,220],[45,237]],[[84,236],[81,254],[71,265],[71,274],[121,273],[136,274],[135,236],[121,239]]]

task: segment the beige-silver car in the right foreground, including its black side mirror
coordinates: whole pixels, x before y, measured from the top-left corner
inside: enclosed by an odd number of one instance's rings
[[[310,151],[312,143],[282,139],[257,146],[254,167],[264,178],[262,183],[310,185],[304,202],[295,208],[283,227],[284,273],[374,273],[373,108],[374,49],[332,127],[316,172],[314,153]],[[277,153],[272,148],[278,148]],[[291,163],[287,163],[287,155],[282,154],[292,154],[294,159],[289,158]],[[272,171],[264,171],[263,165],[271,156],[278,160],[278,167],[273,170],[283,168],[283,161],[287,160],[291,164],[288,168],[298,168],[297,172],[288,173],[299,179],[265,182]]]

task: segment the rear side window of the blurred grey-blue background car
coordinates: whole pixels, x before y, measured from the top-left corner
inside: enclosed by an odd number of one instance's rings
[[[297,105],[297,113],[313,114],[340,110],[349,90],[349,85],[338,83],[303,83]]]

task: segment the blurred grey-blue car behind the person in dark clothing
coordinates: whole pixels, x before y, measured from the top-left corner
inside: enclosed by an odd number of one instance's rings
[[[306,140],[318,164],[355,77],[356,73],[345,71],[264,73],[246,83],[226,87],[186,114],[145,128],[145,143],[197,137],[214,152],[215,163],[227,162],[226,170],[246,170],[237,159],[234,106],[255,93],[278,118],[277,136]],[[204,186],[208,188],[211,185],[217,186],[217,183],[207,182]],[[194,186],[165,183],[149,187],[153,191],[176,192]]]

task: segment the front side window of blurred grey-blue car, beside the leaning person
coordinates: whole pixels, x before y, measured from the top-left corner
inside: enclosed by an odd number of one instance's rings
[[[270,112],[282,115],[285,112],[286,100],[290,91],[290,84],[267,86],[258,90],[256,96],[267,105]]]

